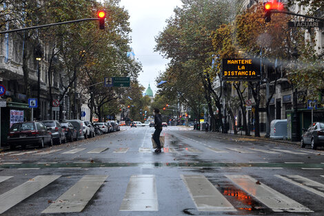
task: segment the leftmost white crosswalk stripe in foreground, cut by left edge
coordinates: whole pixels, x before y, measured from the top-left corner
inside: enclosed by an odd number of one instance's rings
[[[0,214],[19,204],[19,202],[23,201],[23,199],[30,197],[37,191],[41,190],[41,188],[48,186],[48,184],[55,181],[59,177],[61,177],[61,175],[38,175],[20,186],[3,193],[0,195]]]

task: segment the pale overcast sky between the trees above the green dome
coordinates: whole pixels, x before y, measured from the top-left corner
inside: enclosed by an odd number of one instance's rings
[[[154,52],[154,37],[163,31],[165,20],[173,15],[173,9],[181,5],[181,0],[121,0],[121,6],[130,14],[135,59],[143,65],[139,82],[145,88],[150,83],[154,95],[157,89],[155,78],[160,71],[165,70],[165,64],[168,63],[159,52]]]

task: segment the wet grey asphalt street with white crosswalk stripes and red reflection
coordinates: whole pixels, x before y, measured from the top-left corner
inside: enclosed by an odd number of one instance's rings
[[[153,132],[0,153],[0,215],[324,215],[324,148]]]

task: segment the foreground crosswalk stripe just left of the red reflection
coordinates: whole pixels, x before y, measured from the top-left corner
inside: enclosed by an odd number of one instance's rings
[[[199,211],[236,211],[227,199],[203,175],[181,175]]]

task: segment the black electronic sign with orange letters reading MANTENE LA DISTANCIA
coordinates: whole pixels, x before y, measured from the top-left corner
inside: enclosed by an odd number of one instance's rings
[[[260,59],[223,59],[224,81],[260,80]]]

